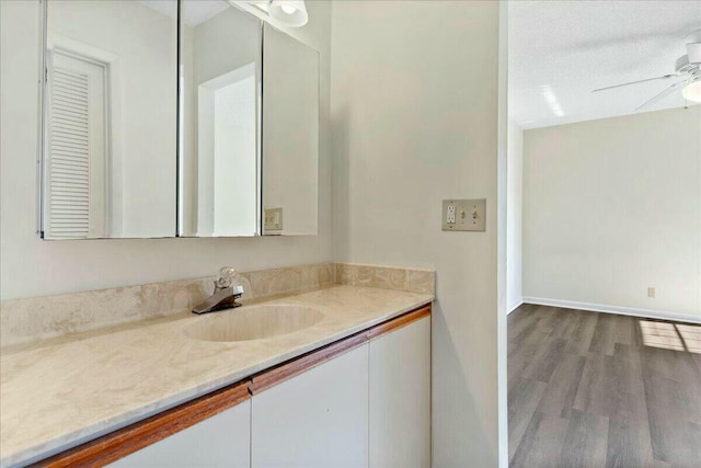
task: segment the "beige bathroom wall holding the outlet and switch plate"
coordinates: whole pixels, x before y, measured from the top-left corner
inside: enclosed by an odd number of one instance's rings
[[[497,465],[498,2],[333,7],[334,258],[437,271],[436,467]],[[440,230],[486,197],[486,232]]]

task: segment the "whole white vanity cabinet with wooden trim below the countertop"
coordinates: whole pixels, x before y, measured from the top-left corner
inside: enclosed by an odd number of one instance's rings
[[[430,305],[37,464],[427,468]]]

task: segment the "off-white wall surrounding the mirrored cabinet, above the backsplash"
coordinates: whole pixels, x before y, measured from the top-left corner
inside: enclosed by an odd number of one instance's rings
[[[329,261],[331,4],[308,2],[290,34],[320,50],[319,236],[43,241],[36,236],[39,3],[0,2],[0,299],[43,296]],[[175,155],[173,155],[173,158]]]

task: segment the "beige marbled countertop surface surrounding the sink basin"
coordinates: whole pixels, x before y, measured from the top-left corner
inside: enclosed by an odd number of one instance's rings
[[[184,312],[3,350],[0,466],[36,461],[79,445],[433,299],[428,294],[332,286],[260,303],[324,313],[311,328],[276,338],[197,341],[184,330],[211,315]]]

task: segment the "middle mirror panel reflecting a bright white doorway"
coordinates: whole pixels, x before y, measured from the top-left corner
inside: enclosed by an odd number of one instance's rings
[[[181,236],[260,233],[261,21],[181,3]]]

